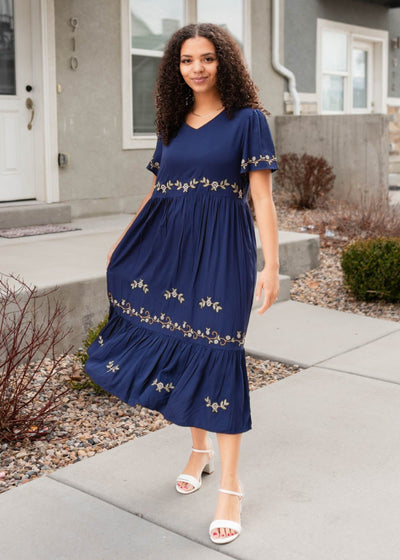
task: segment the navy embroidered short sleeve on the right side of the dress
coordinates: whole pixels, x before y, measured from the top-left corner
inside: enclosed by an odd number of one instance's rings
[[[259,109],[252,109],[243,136],[240,172],[278,169],[275,147],[267,119]]]

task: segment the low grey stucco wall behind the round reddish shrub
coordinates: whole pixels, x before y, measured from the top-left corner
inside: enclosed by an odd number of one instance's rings
[[[333,195],[359,202],[388,188],[387,115],[282,116],[275,120],[279,154],[323,156],[336,175]]]

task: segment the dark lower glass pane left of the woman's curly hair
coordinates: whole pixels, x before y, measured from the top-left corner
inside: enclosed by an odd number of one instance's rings
[[[135,133],[154,133],[153,90],[161,58],[132,56],[133,123]]]

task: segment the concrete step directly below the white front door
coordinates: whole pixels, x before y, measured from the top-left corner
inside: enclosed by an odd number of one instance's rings
[[[62,202],[0,203],[0,229],[69,222],[71,222],[71,206]]]

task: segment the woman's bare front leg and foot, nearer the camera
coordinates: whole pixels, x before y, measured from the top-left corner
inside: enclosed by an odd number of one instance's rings
[[[238,464],[242,434],[217,434],[221,459],[220,488],[241,492],[239,485]],[[218,492],[217,511],[214,519],[240,520],[240,502],[238,496]],[[233,535],[233,529],[215,529],[214,538]]]

